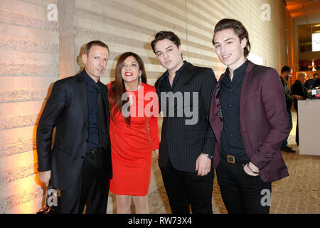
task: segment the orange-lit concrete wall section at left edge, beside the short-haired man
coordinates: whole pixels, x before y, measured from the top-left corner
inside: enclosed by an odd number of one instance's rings
[[[50,84],[59,78],[56,1],[0,1],[0,213],[40,208],[36,123]]]

